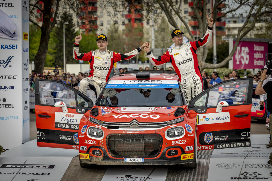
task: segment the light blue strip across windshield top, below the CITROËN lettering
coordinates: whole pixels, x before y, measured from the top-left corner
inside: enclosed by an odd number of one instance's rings
[[[165,83],[133,83],[133,84],[107,84],[106,88],[177,88],[178,84],[165,84]]]

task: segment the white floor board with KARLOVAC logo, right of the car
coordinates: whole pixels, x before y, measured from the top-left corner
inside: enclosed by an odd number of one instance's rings
[[[251,135],[251,146],[213,150],[209,180],[271,180],[269,135]]]

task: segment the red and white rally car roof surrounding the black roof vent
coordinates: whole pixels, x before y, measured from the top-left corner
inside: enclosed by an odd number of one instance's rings
[[[179,80],[179,77],[175,71],[159,71],[159,70],[151,70],[151,71],[126,71],[122,73],[121,75],[115,75],[110,80],[135,80],[136,74],[138,72],[149,72],[150,77],[147,78],[147,80],[150,79],[156,79],[156,80]],[[139,79],[139,80],[145,80],[145,79]]]

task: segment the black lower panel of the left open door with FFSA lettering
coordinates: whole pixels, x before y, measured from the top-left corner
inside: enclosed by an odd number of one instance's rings
[[[78,132],[78,131],[76,131]],[[37,128],[38,142],[78,145],[78,133]],[[78,149],[78,148],[77,148]]]

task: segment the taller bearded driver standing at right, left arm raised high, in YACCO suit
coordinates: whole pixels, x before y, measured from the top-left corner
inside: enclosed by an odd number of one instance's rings
[[[189,101],[203,91],[204,84],[201,71],[198,66],[196,50],[206,45],[212,37],[213,19],[207,15],[208,29],[203,38],[198,41],[183,43],[183,36],[179,29],[172,31],[172,40],[175,46],[166,51],[162,56],[155,57],[150,51],[150,43],[144,47],[149,61],[153,65],[162,65],[171,62],[181,81],[187,104]]]

